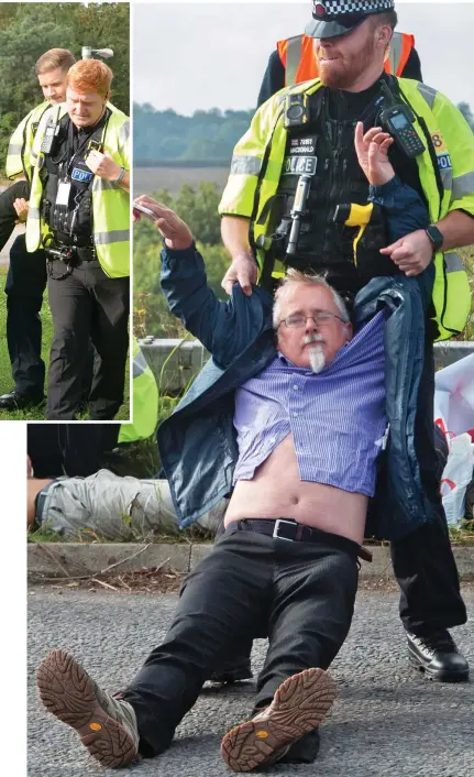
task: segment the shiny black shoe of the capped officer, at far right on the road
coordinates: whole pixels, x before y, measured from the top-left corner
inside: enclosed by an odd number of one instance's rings
[[[445,628],[417,636],[407,632],[410,664],[431,680],[461,682],[469,679],[470,667]]]

